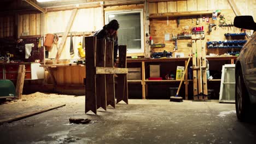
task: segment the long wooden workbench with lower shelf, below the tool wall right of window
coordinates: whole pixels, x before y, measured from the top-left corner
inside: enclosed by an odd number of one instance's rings
[[[222,69],[222,63],[225,64],[232,64],[234,63],[236,56],[229,56],[229,57],[207,57],[209,63],[210,63],[210,69],[214,69],[216,67],[218,71],[221,71]],[[149,77],[149,65],[154,64],[160,64],[160,75],[161,77],[165,77],[163,75],[167,74],[167,71],[173,70],[176,72],[177,66],[185,66],[188,62],[188,57],[183,58],[158,58],[158,59],[127,59],[127,68],[138,68],[141,67],[141,80],[128,80],[129,83],[141,83],[142,85],[142,99],[146,99],[148,96],[148,85],[150,83],[177,83],[177,87],[179,85],[179,82],[181,80],[148,80]],[[219,63],[220,62],[220,63]],[[212,67],[211,67],[212,64]],[[190,61],[189,67],[192,65],[192,62]],[[214,66],[213,66],[214,65]],[[185,71],[185,79],[184,79],[184,85],[185,85],[185,99],[188,99],[188,85],[189,82],[193,82],[193,80],[188,80],[188,70]],[[219,82],[220,85],[220,79],[213,79],[208,80],[208,82]]]

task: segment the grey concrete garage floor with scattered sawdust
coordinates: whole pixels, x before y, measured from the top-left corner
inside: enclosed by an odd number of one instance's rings
[[[84,114],[84,97],[71,98],[65,107],[0,125],[0,143],[256,143],[256,124],[238,122],[234,104],[130,99],[96,116]],[[28,101],[17,103],[0,105],[0,118]],[[48,99],[20,113],[58,103]],[[70,117],[92,121],[69,124]]]

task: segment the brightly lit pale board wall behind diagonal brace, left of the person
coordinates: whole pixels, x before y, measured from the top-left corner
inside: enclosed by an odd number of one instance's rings
[[[44,18],[44,34],[65,32],[70,16],[71,10],[46,13]],[[102,8],[79,9],[70,30],[73,35],[74,57],[71,57],[69,53],[70,37],[68,37],[60,59],[79,58],[77,47],[78,43],[82,41],[82,35],[76,37],[77,32],[95,32],[102,29],[102,27]],[[60,45],[61,41],[62,38],[60,37],[58,45]],[[53,55],[56,55],[56,51],[55,48],[55,50],[49,52],[50,58],[55,58]]]

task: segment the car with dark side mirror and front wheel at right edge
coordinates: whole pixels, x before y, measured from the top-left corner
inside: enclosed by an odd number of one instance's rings
[[[256,104],[256,23],[252,16],[236,16],[234,26],[254,31],[242,47],[235,67],[236,116],[240,121],[246,121],[253,117]]]

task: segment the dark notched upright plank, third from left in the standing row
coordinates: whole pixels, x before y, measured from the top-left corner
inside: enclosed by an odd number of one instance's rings
[[[106,42],[106,67],[114,67],[114,45],[112,42]],[[111,105],[115,108],[115,83],[114,75],[106,74],[106,93],[107,93],[107,106]]]

